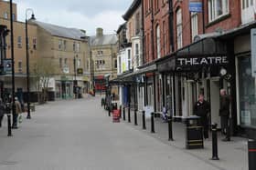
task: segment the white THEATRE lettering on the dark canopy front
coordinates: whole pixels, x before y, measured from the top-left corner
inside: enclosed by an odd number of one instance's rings
[[[209,56],[209,57],[178,57],[176,66],[199,66],[199,65],[227,65],[229,64],[227,56]]]

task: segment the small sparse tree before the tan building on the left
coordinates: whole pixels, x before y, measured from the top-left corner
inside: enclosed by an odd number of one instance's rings
[[[31,75],[36,81],[37,99],[41,104],[48,101],[48,83],[50,78],[57,73],[56,68],[51,58],[38,58],[33,65]]]

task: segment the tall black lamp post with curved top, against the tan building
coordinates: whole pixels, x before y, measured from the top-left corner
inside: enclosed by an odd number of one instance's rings
[[[30,115],[30,79],[29,79],[29,53],[28,53],[28,33],[27,33],[27,13],[32,12],[31,19],[35,19],[34,11],[30,8],[26,10],[26,54],[27,54],[27,119],[31,119]]]

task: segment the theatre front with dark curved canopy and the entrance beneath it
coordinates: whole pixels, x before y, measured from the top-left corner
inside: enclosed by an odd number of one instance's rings
[[[219,90],[230,86],[220,74],[220,70],[229,68],[225,42],[214,37],[201,39],[166,56],[157,65],[158,72],[165,75],[165,105],[171,105],[169,111],[175,120],[194,115],[197,96],[203,94],[211,105],[210,123],[220,125]]]

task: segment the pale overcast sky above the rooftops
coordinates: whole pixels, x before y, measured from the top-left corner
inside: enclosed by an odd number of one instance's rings
[[[32,8],[37,20],[55,25],[76,27],[95,35],[96,27],[112,34],[123,24],[122,15],[133,0],[14,0],[18,20],[25,20],[27,8]],[[29,14],[30,15],[30,14]]]

